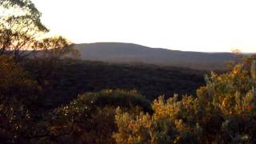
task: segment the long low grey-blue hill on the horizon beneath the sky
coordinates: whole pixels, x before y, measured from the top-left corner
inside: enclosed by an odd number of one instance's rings
[[[150,48],[131,43],[98,42],[75,44],[83,60],[114,63],[148,63],[160,66],[182,66],[198,70],[222,70],[226,62],[238,58],[231,53],[202,53]]]

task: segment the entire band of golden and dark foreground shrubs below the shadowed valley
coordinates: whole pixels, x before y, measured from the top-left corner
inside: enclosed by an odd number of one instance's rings
[[[160,96],[152,102],[136,90],[101,90],[78,94],[70,103],[43,110],[42,100],[50,100],[44,89],[48,90],[46,83],[51,81],[41,84],[34,77],[36,74],[26,71],[24,64],[2,55],[0,140],[254,143],[254,60],[246,58],[225,74],[210,74],[206,86],[199,87],[194,96],[174,94],[168,99]],[[54,89],[50,91],[54,93]],[[51,97],[62,98],[62,95],[51,94]]]

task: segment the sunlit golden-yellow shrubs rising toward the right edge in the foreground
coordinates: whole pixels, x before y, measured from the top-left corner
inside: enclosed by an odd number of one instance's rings
[[[254,62],[212,73],[197,97],[177,96],[152,104],[154,114],[118,110],[118,143],[254,143],[256,90]]]

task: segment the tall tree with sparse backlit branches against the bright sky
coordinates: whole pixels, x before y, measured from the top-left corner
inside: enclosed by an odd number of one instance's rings
[[[0,8],[0,55],[8,54],[20,61],[31,54],[60,58],[71,51],[65,38],[46,38],[49,30],[30,0],[2,0]],[[36,54],[38,51],[40,54]]]

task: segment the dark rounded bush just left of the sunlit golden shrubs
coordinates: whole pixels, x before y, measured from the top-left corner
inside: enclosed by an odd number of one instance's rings
[[[46,116],[50,137],[40,141],[68,143],[115,143],[112,133],[117,130],[115,109],[150,111],[150,102],[135,90],[102,90],[78,95],[69,105],[59,107]]]

